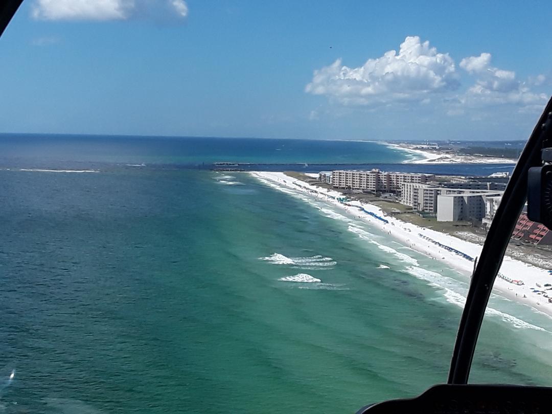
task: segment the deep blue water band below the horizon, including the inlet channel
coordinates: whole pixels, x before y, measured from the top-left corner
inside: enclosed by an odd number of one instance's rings
[[[407,152],[368,141],[0,134],[0,168],[147,168],[319,172],[331,169],[487,176],[512,164],[404,164]],[[232,163],[230,166],[215,163]]]

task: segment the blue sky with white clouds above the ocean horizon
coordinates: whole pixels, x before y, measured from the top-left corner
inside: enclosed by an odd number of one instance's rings
[[[0,132],[526,139],[552,92],[549,4],[457,4],[25,0]]]

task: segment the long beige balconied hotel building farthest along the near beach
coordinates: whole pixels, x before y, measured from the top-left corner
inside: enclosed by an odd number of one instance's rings
[[[381,193],[397,193],[404,183],[426,183],[435,179],[433,174],[370,171],[332,171],[333,187]]]

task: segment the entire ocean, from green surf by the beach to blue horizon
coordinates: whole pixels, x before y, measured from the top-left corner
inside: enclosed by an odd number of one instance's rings
[[[0,154],[1,412],[350,413],[446,381],[465,277],[321,201],[205,167],[404,153],[4,135]],[[471,380],[552,385],[551,332],[494,296]]]

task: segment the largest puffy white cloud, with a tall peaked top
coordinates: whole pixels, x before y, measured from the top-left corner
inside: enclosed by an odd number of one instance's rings
[[[422,101],[433,93],[458,87],[453,59],[429,47],[428,41],[421,43],[418,36],[408,36],[398,54],[390,50],[356,68],[342,66],[338,59],[316,70],[305,91],[344,104],[385,104]]]

